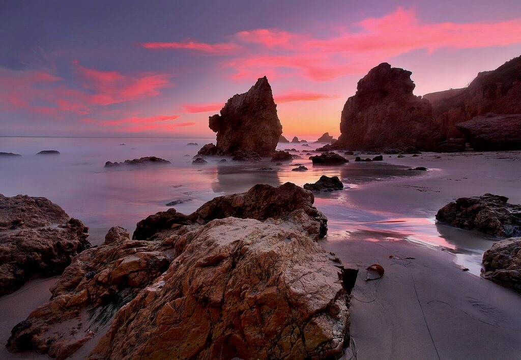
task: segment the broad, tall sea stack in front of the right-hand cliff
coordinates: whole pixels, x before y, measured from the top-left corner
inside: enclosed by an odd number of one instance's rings
[[[371,69],[344,105],[342,134],[334,145],[350,150],[435,148],[441,133],[429,102],[413,95],[414,86],[411,71],[387,63]]]

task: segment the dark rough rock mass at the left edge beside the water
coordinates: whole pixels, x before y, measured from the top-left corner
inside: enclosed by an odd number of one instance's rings
[[[0,194],[0,295],[31,276],[53,276],[88,249],[89,228],[45,197]]]

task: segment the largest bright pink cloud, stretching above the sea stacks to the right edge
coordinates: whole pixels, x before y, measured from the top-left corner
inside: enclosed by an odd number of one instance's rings
[[[151,47],[192,48],[210,55],[229,55],[231,58],[221,67],[233,69],[235,79],[268,75],[329,81],[366,72],[382,61],[416,49],[433,52],[441,48],[521,43],[521,19],[421,23],[414,10],[403,7],[380,18],[359,21],[353,29],[331,28],[337,33],[329,38],[279,29],[256,29],[232,34],[226,43],[153,43],[155,47]],[[239,48],[241,55],[237,56]]]

